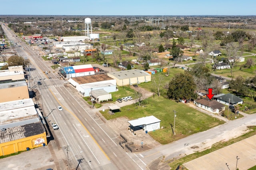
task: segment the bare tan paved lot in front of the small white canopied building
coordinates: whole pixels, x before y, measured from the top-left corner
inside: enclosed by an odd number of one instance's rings
[[[127,117],[119,117],[109,120],[107,124],[116,132],[116,134],[118,134],[118,136],[122,134],[127,139],[128,143],[134,142],[133,145],[129,146],[132,148],[132,152],[142,152],[157,146],[161,146],[159,142],[155,141],[148,133],[142,129],[132,132],[132,130],[129,129],[130,124],[128,121],[130,120]],[[123,140],[122,138],[119,139],[120,141]],[[141,147],[141,142],[143,142],[143,148]],[[123,144],[123,146],[125,146],[125,144]]]

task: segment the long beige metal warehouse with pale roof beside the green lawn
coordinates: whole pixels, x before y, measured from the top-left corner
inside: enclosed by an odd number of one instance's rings
[[[132,69],[108,73],[108,76],[116,79],[116,85],[132,85],[151,81],[151,75],[145,71]]]

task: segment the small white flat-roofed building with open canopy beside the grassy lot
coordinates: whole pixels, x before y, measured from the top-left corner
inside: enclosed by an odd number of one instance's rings
[[[160,129],[160,120],[154,116],[142,117],[136,120],[128,121],[130,123],[130,130],[144,129],[146,132]]]

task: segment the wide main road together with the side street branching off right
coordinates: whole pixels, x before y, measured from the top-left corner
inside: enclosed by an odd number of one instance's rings
[[[11,38],[14,38],[12,41],[17,41],[16,36],[10,36]],[[32,47],[25,47],[25,50],[18,52],[28,57],[32,63],[30,87],[40,92],[36,94],[40,97],[38,103],[42,106],[48,123],[54,121],[60,127],[58,130],[50,130],[56,136],[54,140],[58,141],[59,149],[63,150],[63,154],[69,160],[70,168],[144,170],[158,158],[165,156],[164,160],[168,160],[194,153],[210,147],[215,142],[225,140],[230,135],[240,136],[241,130],[246,130],[246,126],[256,125],[256,115],[248,115],[146,152],[125,152],[118,145],[119,134],[90,109],[74,87],[61,80],[57,73],[43,73],[51,70],[49,61],[43,61]],[[42,85],[35,83],[38,80]],[[59,105],[64,108],[63,111],[58,111]],[[68,155],[64,150],[65,146],[69,146]]]

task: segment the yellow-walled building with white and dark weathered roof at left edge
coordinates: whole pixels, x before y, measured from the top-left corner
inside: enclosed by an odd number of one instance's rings
[[[32,99],[0,103],[0,115],[0,156],[47,144]]]

